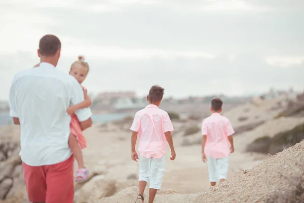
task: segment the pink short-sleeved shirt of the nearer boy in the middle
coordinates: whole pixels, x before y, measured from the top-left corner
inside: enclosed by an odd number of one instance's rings
[[[145,158],[162,158],[166,153],[165,132],[174,130],[168,113],[156,105],[138,111],[130,129],[138,132],[138,152]]]

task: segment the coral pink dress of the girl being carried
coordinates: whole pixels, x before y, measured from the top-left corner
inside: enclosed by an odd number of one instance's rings
[[[85,87],[82,88],[86,90]],[[79,120],[75,114],[71,115],[70,132],[76,137],[78,145],[81,149],[87,147],[86,138],[84,137]]]

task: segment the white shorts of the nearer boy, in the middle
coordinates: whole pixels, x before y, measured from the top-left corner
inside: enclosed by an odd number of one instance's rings
[[[165,156],[162,158],[145,158],[139,156],[138,181],[150,183],[149,188],[161,189],[165,173]]]

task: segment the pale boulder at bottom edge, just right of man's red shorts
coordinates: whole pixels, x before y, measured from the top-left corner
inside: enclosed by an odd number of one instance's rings
[[[116,181],[104,179],[103,175],[94,176],[75,194],[75,202],[89,203],[102,197],[111,196],[116,192],[115,184]]]

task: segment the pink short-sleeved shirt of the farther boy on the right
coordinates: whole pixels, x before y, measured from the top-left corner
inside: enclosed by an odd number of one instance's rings
[[[229,156],[230,146],[228,136],[235,131],[229,121],[219,113],[213,113],[203,121],[202,135],[207,135],[205,154],[212,158]]]

